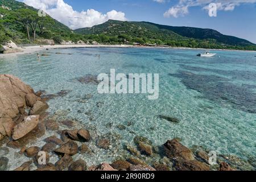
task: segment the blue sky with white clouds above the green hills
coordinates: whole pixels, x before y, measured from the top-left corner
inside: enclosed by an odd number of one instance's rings
[[[109,19],[212,28],[256,43],[256,0],[19,0],[72,29]],[[214,3],[214,4],[211,4]],[[211,5],[210,5],[211,4]],[[217,16],[209,16],[216,7]],[[213,15],[213,14],[212,14]]]

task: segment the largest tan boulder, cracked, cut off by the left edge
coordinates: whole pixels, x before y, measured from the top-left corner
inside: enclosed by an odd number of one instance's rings
[[[34,90],[12,75],[0,75],[0,118],[9,115],[15,118],[19,109],[26,107],[26,95]]]

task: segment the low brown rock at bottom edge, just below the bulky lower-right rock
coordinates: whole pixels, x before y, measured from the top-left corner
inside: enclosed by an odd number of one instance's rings
[[[176,159],[174,167],[177,171],[209,171],[210,167],[206,163],[198,160]]]

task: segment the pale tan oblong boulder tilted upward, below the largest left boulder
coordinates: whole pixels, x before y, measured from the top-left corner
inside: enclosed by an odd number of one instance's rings
[[[24,118],[24,121],[19,123],[19,125],[16,125],[13,129],[12,138],[14,140],[18,140],[28,133],[30,131],[34,130],[36,126],[38,126],[39,123],[39,115],[30,115],[28,117]]]

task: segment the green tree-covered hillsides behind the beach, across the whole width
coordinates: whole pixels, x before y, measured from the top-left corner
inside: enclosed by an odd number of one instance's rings
[[[52,39],[101,44],[156,44],[172,47],[256,50],[256,45],[211,29],[172,27],[150,22],[109,20],[91,28],[70,30],[38,10],[14,0],[0,0],[0,45],[8,40],[17,44],[42,43]]]

